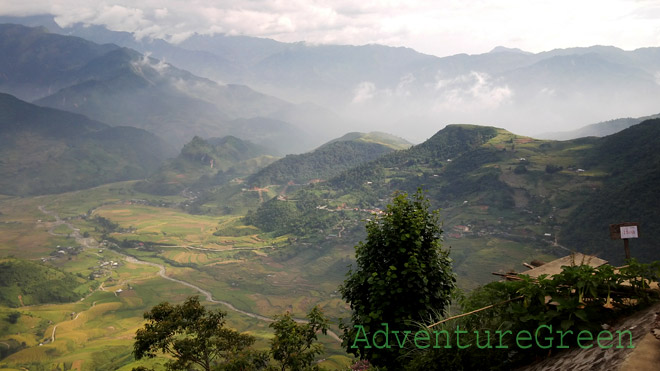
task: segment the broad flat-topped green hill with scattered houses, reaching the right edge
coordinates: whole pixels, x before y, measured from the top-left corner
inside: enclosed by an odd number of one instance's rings
[[[442,208],[450,243],[496,238],[541,249],[563,245],[620,263],[622,243],[609,241],[608,226],[639,221],[648,235],[633,242],[633,256],[658,259],[658,138],[658,119],[605,138],[563,142],[450,125],[420,145],[273,199],[248,220],[278,233],[300,233],[301,225],[332,228],[350,218],[340,209],[378,210],[392,192],[422,187]],[[320,205],[337,211],[319,212]],[[454,252],[458,261],[462,255]]]

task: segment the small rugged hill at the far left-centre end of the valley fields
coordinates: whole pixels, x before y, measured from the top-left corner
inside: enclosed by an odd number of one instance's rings
[[[173,195],[219,186],[272,163],[273,150],[233,136],[194,137],[176,158],[169,160],[135,188],[157,195]]]

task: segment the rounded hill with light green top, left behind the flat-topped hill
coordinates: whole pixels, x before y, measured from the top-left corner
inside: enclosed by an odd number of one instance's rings
[[[248,177],[247,183],[263,187],[327,180],[342,171],[410,146],[406,140],[386,133],[349,133],[312,152],[288,155],[275,161]]]

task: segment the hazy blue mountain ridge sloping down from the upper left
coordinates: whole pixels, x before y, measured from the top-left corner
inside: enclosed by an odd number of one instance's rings
[[[140,127],[177,146],[194,135],[240,133],[295,152],[313,147],[318,135],[311,134],[324,131],[315,131],[317,122],[275,124],[296,111],[283,100],[247,86],[219,85],[116,45],[7,24],[0,25],[0,50],[0,66],[11,67],[0,90],[111,125]]]

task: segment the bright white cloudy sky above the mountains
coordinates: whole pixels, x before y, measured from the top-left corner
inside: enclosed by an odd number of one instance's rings
[[[138,38],[225,33],[312,44],[405,46],[436,56],[660,46],[660,0],[0,0],[0,15],[54,14]]]

